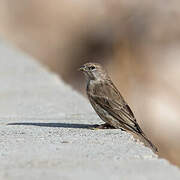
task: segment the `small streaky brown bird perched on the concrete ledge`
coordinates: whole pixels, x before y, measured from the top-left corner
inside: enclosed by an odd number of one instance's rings
[[[87,95],[99,117],[105,124],[98,128],[120,128],[142,137],[157,152],[157,148],[146,137],[130,107],[115,87],[107,71],[97,63],[86,63],[80,69],[87,80]]]

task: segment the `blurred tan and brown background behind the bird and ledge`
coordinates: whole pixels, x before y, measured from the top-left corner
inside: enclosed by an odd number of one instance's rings
[[[0,38],[83,94],[77,68],[102,63],[160,157],[180,166],[178,0],[0,0]]]

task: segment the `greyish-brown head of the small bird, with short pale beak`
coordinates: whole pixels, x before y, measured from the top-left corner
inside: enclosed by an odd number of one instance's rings
[[[105,80],[109,79],[106,70],[98,63],[86,63],[79,68],[88,80]]]

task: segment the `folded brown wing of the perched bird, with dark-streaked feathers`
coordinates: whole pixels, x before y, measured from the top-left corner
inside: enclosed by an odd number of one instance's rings
[[[143,133],[136,122],[133,112],[112,82],[101,83],[101,88],[94,88],[90,98],[96,104],[105,109],[128,130],[136,133]]]

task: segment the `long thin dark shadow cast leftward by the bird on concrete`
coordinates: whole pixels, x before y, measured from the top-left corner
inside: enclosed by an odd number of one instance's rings
[[[93,125],[93,124],[76,124],[76,123],[34,123],[34,122],[15,122],[15,123],[8,123],[7,125],[79,128],[79,129],[90,129],[96,126],[95,124]]]

